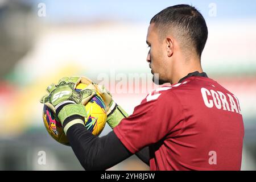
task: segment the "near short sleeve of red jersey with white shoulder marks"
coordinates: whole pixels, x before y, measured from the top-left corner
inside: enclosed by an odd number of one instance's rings
[[[150,93],[134,112],[113,130],[132,153],[156,143],[171,133],[179,122],[181,106],[171,90]]]

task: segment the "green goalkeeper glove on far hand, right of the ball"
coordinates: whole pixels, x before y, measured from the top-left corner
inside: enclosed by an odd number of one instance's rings
[[[129,115],[126,113],[125,110],[122,109],[121,106],[117,105],[113,99],[112,95],[104,85],[98,85],[94,84],[96,87],[96,91],[101,95],[101,97],[104,100],[104,103],[106,105],[106,111],[107,111],[107,119],[106,122],[109,124],[112,129],[117,126],[123,118],[128,117]]]

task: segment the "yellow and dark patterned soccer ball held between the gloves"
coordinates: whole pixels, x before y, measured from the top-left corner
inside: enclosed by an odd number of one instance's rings
[[[86,88],[86,84],[78,84],[76,90]],[[85,105],[87,117],[85,118],[85,127],[93,135],[100,135],[106,124],[106,106],[100,94],[96,93],[90,101]],[[49,135],[57,142],[68,145],[68,138],[65,135],[59,119],[49,109],[48,106],[43,107],[43,122]]]

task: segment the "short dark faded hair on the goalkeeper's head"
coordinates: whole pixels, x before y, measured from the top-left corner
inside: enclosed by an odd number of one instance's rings
[[[208,28],[203,15],[193,6],[175,5],[160,11],[151,20],[160,34],[176,28],[175,34],[184,38],[185,46],[193,46],[199,57],[208,37]]]

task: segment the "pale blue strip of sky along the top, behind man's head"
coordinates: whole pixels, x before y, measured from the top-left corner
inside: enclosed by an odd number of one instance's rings
[[[79,22],[93,19],[149,22],[152,16],[159,11],[168,6],[180,3],[195,6],[207,20],[256,18],[256,1],[251,0],[36,0],[32,1],[32,3],[34,3],[35,10],[38,9],[37,5],[39,2],[46,4],[47,19],[53,22]],[[217,5],[216,17],[210,17],[208,15],[210,3],[215,3]]]

